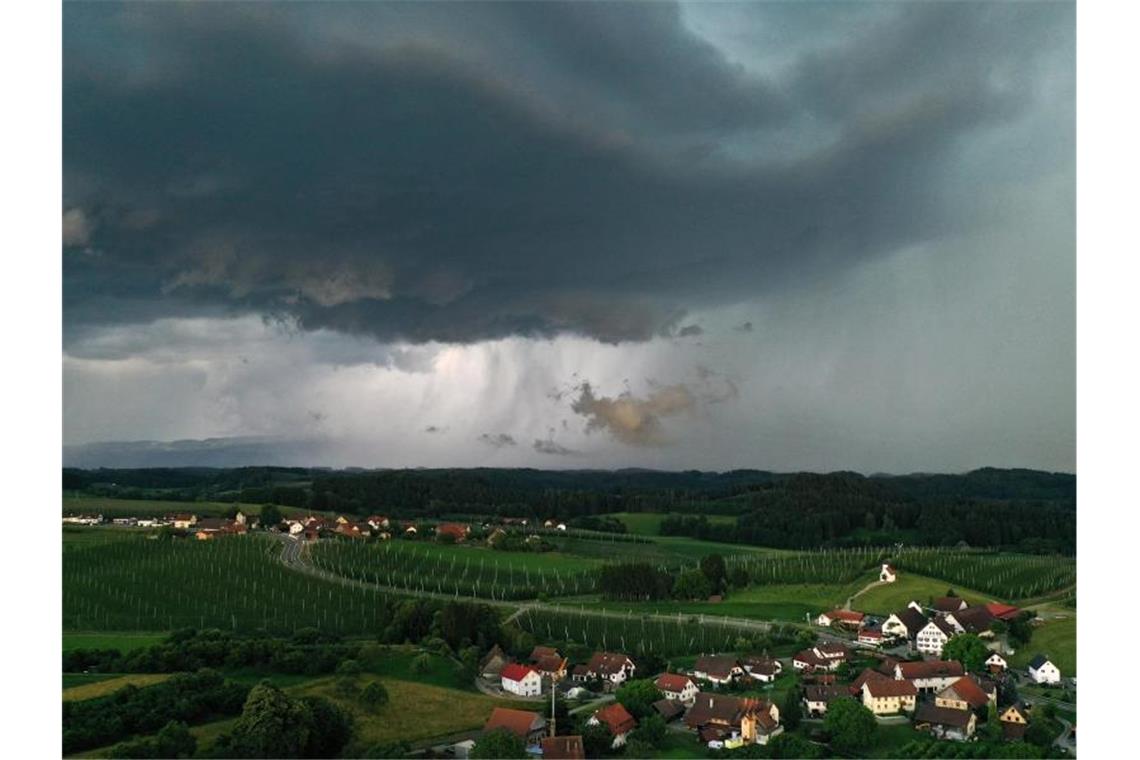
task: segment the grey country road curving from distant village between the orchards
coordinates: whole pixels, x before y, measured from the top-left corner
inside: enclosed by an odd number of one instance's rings
[[[478,602],[480,604],[487,604],[495,607],[503,607],[512,611],[512,614],[507,620],[515,620],[520,615],[526,614],[529,611],[540,611],[548,610],[551,612],[572,612],[579,615],[588,615],[593,618],[611,618],[617,620],[629,620],[632,618],[646,619],[653,621],[662,622],[676,622],[678,620],[690,620],[695,619],[700,623],[708,623],[710,626],[720,626],[724,628],[738,629],[740,631],[756,632],[756,631],[767,631],[773,624],[784,624],[792,626],[796,628],[806,628],[803,623],[790,623],[784,621],[772,621],[772,620],[750,620],[746,618],[724,618],[720,615],[703,615],[703,614],[674,614],[674,615],[662,615],[656,613],[644,613],[634,614],[629,612],[620,612],[617,610],[598,610],[594,607],[586,606],[562,606],[557,604],[551,604],[547,602],[506,602],[503,599],[486,599],[482,597],[474,596],[459,596],[455,594],[439,594],[437,591],[408,591],[404,588],[398,588],[394,586],[384,586],[382,583],[369,583],[367,581],[360,581],[352,578],[345,578],[343,575],[337,575],[336,573],[331,573],[327,570],[321,570],[312,564],[308,557],[308,545],[304,541],[298,540],[291,536],[285,536],[283,533],[270,533],[275,536],[282,542],[280,561],[286,567],[302,572],[315,578],[320,578],[334,583],[341,583],[344,586],[355,586],[360,588],[366,588],[369,590],[381,590],[389,594],[394,594],[398,596],[415,596],[415,597],[427,597],[435,599],[462,599],[464,602]],[[832,636],[825,631],[817,631],[819,636],[825,640],[837,640],[850,644],[850,641],[842,639],[840,637]]]

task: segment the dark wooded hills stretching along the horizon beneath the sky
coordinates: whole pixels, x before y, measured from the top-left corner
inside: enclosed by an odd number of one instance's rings
[[[584,528],[613,512],[682,513],[662,532],[784,548],[893,542],[1072,553],[1076,476],[538,469],[64,469],[65,492],[279,504],[401,517],[549,517]],[[727,515],[734,523],[702,520]],[[611,523],[617,529],[617,525]],[[604,529],[604,528],[603,528]]]

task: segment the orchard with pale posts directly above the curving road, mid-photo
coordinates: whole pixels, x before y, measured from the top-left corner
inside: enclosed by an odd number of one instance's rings
[[[355,580],[405,589],[488,599],[532,599],[539,594],[592,591],[600,562],[561,553],[496,551],[486,547],[383,541],[320,541],[312,563]]]

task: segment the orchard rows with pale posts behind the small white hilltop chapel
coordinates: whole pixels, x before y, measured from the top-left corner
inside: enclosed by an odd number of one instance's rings
[[[1066,556],[920,548],[891,555],[891,564],[1011,602],[1076,583],[1076,559]]]

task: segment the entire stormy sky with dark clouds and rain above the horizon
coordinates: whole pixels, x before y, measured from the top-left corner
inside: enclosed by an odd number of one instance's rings
[[[63,32],[65,464],[1075,472],[1072,3]]]

